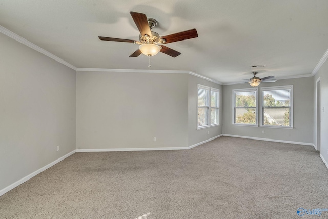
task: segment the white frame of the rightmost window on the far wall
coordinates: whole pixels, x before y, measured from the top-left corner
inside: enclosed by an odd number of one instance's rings
[[[290,90],[290,106],[289,107],[271,107],[271,108],[289,108],[290,112],[290,118],[289,118],[289,126],[275,126],[275,125],[264,125],[264,95],[263,91],[274,91],[274,90]],[[294,86],[293,85],[284,85],[284,86],[273,86],[273,87],[261,87],[260,88],[260,95],[261,95],[261,116],[260,116],[260,127],[265,127],[265,128],[285,128],[285,129],[292,129],[294,127],[294,122],[293,122],[293,115],[294,115],[294,103],[293,103],[293,90]]]

